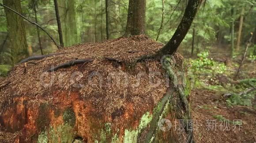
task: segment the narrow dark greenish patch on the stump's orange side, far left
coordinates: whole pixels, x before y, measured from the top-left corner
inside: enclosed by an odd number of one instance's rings
[[[40,104],[38,111],[38,119],[37,125],[39,131],[45,131],[45,129],[49,126],[49,116],[48,112],[49,106],[47,104]]]

